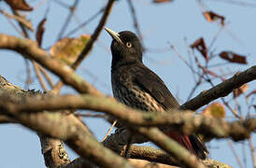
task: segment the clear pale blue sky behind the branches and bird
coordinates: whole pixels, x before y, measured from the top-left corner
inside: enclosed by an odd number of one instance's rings
[[[73,1],[59,0],[60,2],[73,4]],[[42,47],[48,49],[56,42],[56,38],[66,16],[67,9],[60,6],[56,1],[41,0],[32,1],[27,0],[32,6],[36,7],[31,13],[26,13],[27,18],[30,19],[33,25],[36,25],[43,19],[47,9],[46,31],[43,38]],[[164,3],[163,5],[152,4],[151,1],[137,0],[133,1],[135,4],[135,11],[139,26],[143,35],[144,44],[149,52],[144,54],[144,63],[149,66],[156,74],[163,80],[169,90],[178,96],[179,104],[186,102],[189,92],[194,86],[194,80],[190,69],[183,63],[177,54],[170,49],[170,45],[174,45],[178,52],[188,59],[187,44],[192,44],[199,37],[204,37],[206,45],[215,35],[220,31],[220,24],[216,22],[207,22],[202,15],[202,10],[210,9],[214,12],[225,16],[226,26],[218,35],[216,42],[211,48],[214,53],[220,53],[222,50],[232,50],[236,53],[247,56],[247,65],[228,64],[223,65],[222,69],[214,69],[216,72],[226,70],[228,72],[243,71],[256,63],[255,51],[255,37],[256,37],[256,2],[244,1],[243,4],[235,5],[226,3],[225,0],[206,0],[206,6],[200,6],[197,1],[182,1],[176,0],[173,3]],[[236,1],[238,2],[238,1]],[[41,3],[39,5],[39,3]],[[107,0],[94,1],[80,1],[76,11],[76,17],[73,18],[66,33],[78,26],[78,22],[87,21],[96,11],[107,3]],[[253,4],[254,3],[254,4]],[[39,7],[38,7],[39,6]],[[1,1],[0,9],[10,12],[9,7]],[[79,30],[70,37],[77,37],[79,35],[92,34],[95,26],[100,20],[99,15],[95,20],[87,24],[83,29]],[[7,35],[19,35],[15,29],[10,25],[7,19],[0,15],[0,33]],[[107,20],[108,28],[120,32],[123,30],[130,30],[135,32],[134,23],[131,17],[128,4],[124,0],[117,1],[112,8],[112,12]],[[35,39],[35,33],[30,34],[31,38]],[[90,55],[78,68],[78,75],[83,77],[86,81],[92,83],[99,91],[107,95],[112,95],[110,83],[110,66],[111,53],[109,46],[111,37],[107,32],[103,31],[95,43]],[[6,77],[11,83],[24,87],[26,79],[26,67],[21,55],[12,51],[0,50],[0,72],[3,77]],[[204,62],[204,59],[199,59]],[[215,63],[223,63],[220,59]],[[32,70],[33,67],[31,66]],[[58,78],[55,76],[54,81]],[[29,89],[42,90],[36,75],[32,74],[33,83]],[[216,81],[219,83],[220,81]],[[249,83],[249,91],[255,90],[256,82]],[[207,90],[210,85],[204,84],[195,91],[193,96],[200,93],[200,91]],[[70,87],[64,87],[62,93],[76,93]],[[217,102],[220,100],[217,100]],[[241,100],[243,102],[243,100]],[[243,105],[246,105],[245,101]],[[255,102],[254,102],[255,105]],[[251,111],[255,115],[255,111]],[[245,111],[244,115],[247,114]],[[228,112],[227,116],[232,116]],[[97,139],[102,139],[107,133],[110,125],[103,119],[84,119],[86,124],[92,129],[92,132]],[[0,125],[0,158],[1,167],[3,168],[22,168],[22,167],[45,167],[43,156],[41,155],[39,138],[36,133],[17,124],[2,124]],[[255,144],[256,136],[252,136],[252,141]],[[245,144],[245,145],[243,145]],[[235,151],[241,161],[246,161],[245,167],[252,167],[251,157],[249,154],[248,142],[233,143]],[[212,140],[207,143],[210,148],[210,158],[222,161],[234,167],[239,167],[235,161],[233,151],[226,140]],[[68,155],[71,159],[75,159],[77,155],[69,148],[67,148]],[[245,157],[243,157],[245,156]]]

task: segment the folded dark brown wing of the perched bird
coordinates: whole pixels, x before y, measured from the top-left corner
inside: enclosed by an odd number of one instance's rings
[[[164,107],[164,110],[178,108],[177,100],[165,86],[164,81],[149,68],[142,66],[136,69],[133,75],[135,84],[142,90],[147,91],[150,96]]]

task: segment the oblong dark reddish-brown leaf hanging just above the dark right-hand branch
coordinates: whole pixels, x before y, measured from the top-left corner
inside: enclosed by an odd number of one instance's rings
[[[220,58],[229,61],[230,63],[247,64],[246,56],[236,54],[232,51],[223,51],[220,53]]]

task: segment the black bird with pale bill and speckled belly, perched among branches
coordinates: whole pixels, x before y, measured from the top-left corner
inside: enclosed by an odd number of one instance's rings
[[[116,33],[107,27],[105,30],[112,37],[111,85],[114,97],[124,105],[143,111],[178,109],[178,101],[164,81],[142,62],[143,48],[139,38],[130,31]],[[206,159],[207,148],[197,134],[188,136],[175,131],[165,134],[199,159]]]

